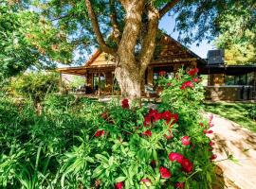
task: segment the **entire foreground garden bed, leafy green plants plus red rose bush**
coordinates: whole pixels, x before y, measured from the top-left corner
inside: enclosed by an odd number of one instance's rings
[[[199,113],[196,73],[161,72],[155,109],[49,94],[38,115],[32,102],[2,96],[1,187],[211,188],[212,124]]]

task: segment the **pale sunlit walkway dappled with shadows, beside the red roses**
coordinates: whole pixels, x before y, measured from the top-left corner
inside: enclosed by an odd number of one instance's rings
[[[210,138],[224,188],[256,189],[256,134],[219,115],[214,114],[212,123],[214,133]],[[227,153],[232,154],[237,163],[222,161],[227,159]]]

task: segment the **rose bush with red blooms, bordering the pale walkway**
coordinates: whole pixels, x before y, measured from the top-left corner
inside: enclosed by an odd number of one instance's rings
[[[132,107],[123,99],[101,114],[96,134],[88,136],[94,146],[90,157],[96,159],[87,163],[92,180],[101,180],[99,187],[211,187],[211,122],[200,115],[203,91],[196,73],[181,70],[174,79],[162,73],[163,103],[156,110]]]

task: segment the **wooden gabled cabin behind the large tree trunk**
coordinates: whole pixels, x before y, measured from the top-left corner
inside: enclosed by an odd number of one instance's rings
[[[175,41],[172,37],[161,34],[157,39],[153,60],[148,65],[144,79],[141,81],[141,92],[154,94],[156,81],[160,71],[165,71],[167,77],[174,77],[177,70],[183,68],[202,67],[207,63],[189,48]],[[116,63],[113,58],[98,49],[93,56],[78,67],[59,68],[61,74],[83,76],[86,79],[85,93],[113,94],[117,81],[115,80]],[[157,88],[157,87],[156,87]]]

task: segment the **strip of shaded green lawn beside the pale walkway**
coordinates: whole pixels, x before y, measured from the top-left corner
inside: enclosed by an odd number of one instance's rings
[[[205,102],[205,111],[219,114],[253,132],[256,132],[256,122],[247,115],[249,109],[256,103],[242,102]]]

